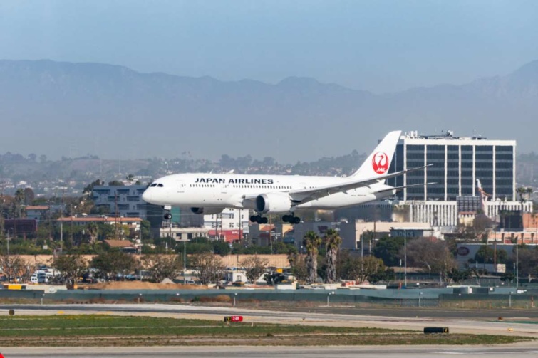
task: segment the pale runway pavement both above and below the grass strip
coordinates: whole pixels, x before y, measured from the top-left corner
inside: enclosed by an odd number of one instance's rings
[[[492,312],[474,310],[467,315],[458,310],[349,310],[345,307],[314,307],[316,312],[253,310],[240,307],[194,305],[123,304],[123,305],[1,305],[0,312],[13,308],[16,315],[88,314],[149,315],[155,317],[222,320],[224,315],[242,315],[245,322],[324,325],[333,327],[379,327],[423,330],[423,327],[449,327],[451,333],[518,335],[538,339],[534,311],[506,311],[514,317],[499,322]],[[290,308],[291,310],[291,308]],[[324,312],[318,312],[323,310]],[[335,312],[336,311],[336,312]],[[368,314],[361,314],[366,313]],[[385,312],[386,315],[381,315]],[[377,315],[371,315],[376,313]],[[398,317],[395,317],[398,316]],[[402,316],[402,317],[400,317]],[[426,317],[428,316],[428,317]],[[452,317],[450,317],[452,316]],[[472,317],[466,317],[472,316]],[[518,322],[509,322],[517,320]],[[528,322],[528,323],[523,323]],[[500,346],[405,346],[405,347],[50,347],[7,348],[5,357],[522,357],[538,356],[538,341]]]

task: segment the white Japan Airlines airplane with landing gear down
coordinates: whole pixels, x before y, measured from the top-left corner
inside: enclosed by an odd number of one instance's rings
[[[389,186],[388,178],[424,169],[416,167],[388,174],[401,131],[389,132],[349,177],[252,174],[172,174],[156,179],[142,199],[162,206],[172,219],[172,206],[190,206],[195,214],[219,214],[224,208],[250,209],[250,221],[267,223],[264,214],[284,214],[282,221],[300,223],[298,209],[338,209],[393,196],[410,186]],[[431,165],[431,164],[430,164]]]

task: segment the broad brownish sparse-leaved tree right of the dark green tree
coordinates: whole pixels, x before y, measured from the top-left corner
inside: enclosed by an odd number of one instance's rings
[[[400,252],[403,256],[403,252]],[[413,238],[407,243],[408,266],[425,268],[428,273],[446,276],[454,268],[455,259],[445,241]]]

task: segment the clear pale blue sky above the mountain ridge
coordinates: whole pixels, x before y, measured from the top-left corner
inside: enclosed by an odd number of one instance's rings
[[[538,59],[538,1],[1,0],[0,58],[385,93]]]

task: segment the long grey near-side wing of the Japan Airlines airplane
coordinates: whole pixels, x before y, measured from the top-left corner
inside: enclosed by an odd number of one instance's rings
[[[349,181],[343,181],[338,184],[333,185],[327,185],[327,186],[319,186],[314,189],[296,189],[288,191],[289,196],[291,197],[291,200],[298,204],[304,204],[306,202],[321,199],[325,196],[329,196],[332,194],[336,194],[339,192],[351,190],[351,189],[357,189],[361,188],[363,186],[370,186],[372,184],[378,183],[380,180],[389,179],[393,177],[398,177],[400,175],[403,175],[408,172],[414,172],[415,170],[424,169],[425,167],[430,167],[432,164],[425,165],[423,167],[416,167],[411,169],[405,169],[401,170],[400,172],[395,172],[391,174],[381,175],[374,178],[366,178],[366,179],[351,179]],[[424,184],[420,184],[424,185]],[[390,189],[392,190],[392,189]]]

